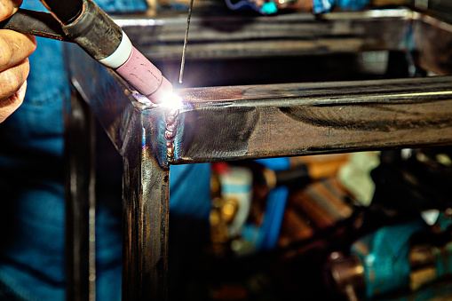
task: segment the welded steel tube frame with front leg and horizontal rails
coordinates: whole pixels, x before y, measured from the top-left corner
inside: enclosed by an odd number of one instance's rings
[[[117,21],[153,59],[179,58],[185,20]],[[194,18],[191,27],[187,59],[409,50],[418,66],[452,75],[452,29],[409,10]],[[407,27],[414,45],[400,41]],[[76,47],[67,54],[76,90],[123,156],[124,300],[166,298],[170,163],[452,143],[450,76],[185,89],[176,114]]]

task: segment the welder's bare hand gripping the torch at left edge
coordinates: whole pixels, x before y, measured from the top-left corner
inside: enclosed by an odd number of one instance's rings
[[[17,11],[22,0],[0,0],[0,21]],[[0,123],[20,105],[27,89],[28,56],[36,49],[34,36],[0,29]]]

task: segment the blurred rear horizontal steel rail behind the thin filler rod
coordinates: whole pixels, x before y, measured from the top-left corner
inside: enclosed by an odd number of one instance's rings
[[[194,15],[186,59],[256,58],[400,49],[400,36],[413,13],[405,10],[310,13],[256,18]],[[158,19],[121,19],[135,46],[149,58],[180,59],[186,15]]]

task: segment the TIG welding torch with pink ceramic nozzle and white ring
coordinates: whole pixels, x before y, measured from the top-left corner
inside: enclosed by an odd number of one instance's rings
[[[41,0],[49,13],[20,9],[0,28],[73,42],[110,67],[157,104],[172,91],[171,83],[132,44],[114,20],[91,0]]]

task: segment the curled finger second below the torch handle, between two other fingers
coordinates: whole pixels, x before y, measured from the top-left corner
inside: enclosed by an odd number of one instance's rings
[[[20,89],[27,79],[29,70],[28,59],[24,59],[18,65],[0,72],[0,101],[8,99]]]

